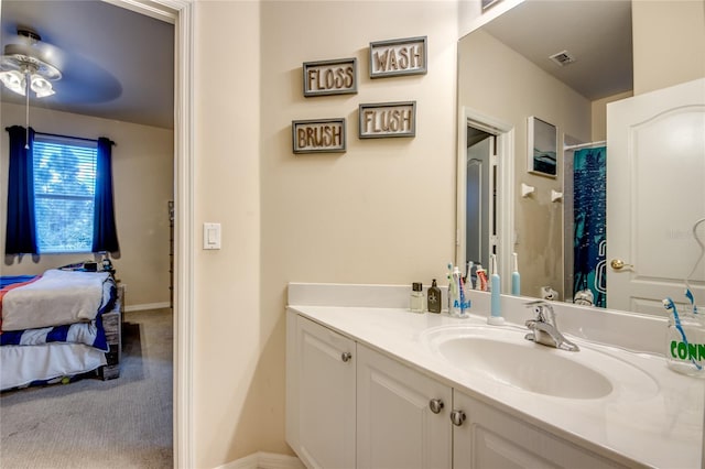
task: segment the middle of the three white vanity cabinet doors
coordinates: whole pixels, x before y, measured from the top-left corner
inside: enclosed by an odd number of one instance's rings
[[[451,468],[451,388],[358,343],[358,468]]]

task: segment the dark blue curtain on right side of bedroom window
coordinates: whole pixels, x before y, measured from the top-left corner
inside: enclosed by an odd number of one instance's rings
[[[93,225],[93,252],[118,252],[118,231],[112,203],[112,142],[98,139],[96,205]]]

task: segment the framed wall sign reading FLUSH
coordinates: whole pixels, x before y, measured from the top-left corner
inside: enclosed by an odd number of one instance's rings
[[[360,139],[416,135],[416,101],[360,105]]]

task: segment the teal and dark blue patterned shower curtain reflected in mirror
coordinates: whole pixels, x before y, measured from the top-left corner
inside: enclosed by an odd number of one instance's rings
[[[607,307],[607,149],[573,154],[574,283],[576,303]]]

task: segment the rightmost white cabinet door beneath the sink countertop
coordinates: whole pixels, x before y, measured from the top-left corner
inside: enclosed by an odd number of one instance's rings
[[[466,419],[453,427],[455,469],[619,468],[609,459],[454,390]]]

